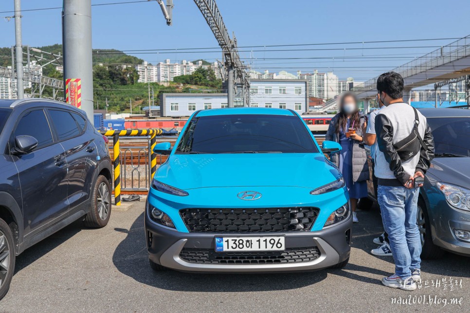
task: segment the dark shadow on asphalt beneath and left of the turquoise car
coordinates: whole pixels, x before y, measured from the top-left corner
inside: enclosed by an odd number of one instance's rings
[[[144,213],[127,231],[113,255],[113,263],[123,274],[149,286],[171,291],[251,292],[301,288],[323,280],[326,271],[289,274],[192,274],[178,271],[153,271],[148,264],[144,236]]]

